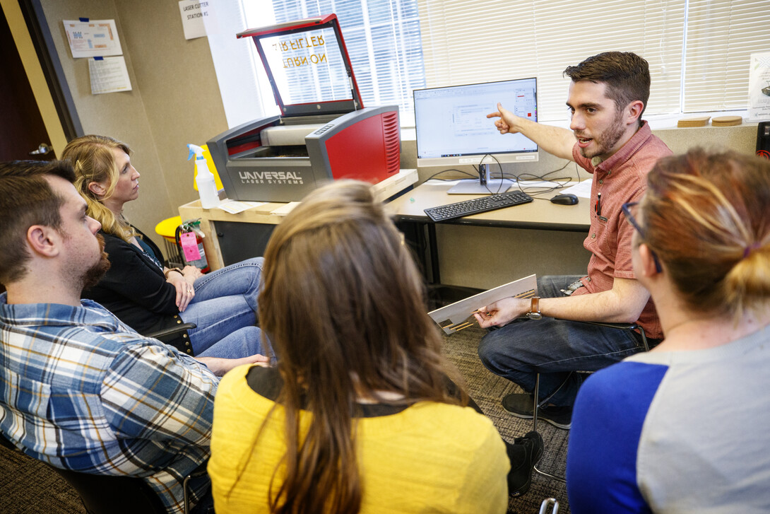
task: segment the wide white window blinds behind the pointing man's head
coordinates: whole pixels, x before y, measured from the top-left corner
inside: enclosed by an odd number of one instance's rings
[[[770,49],[770,0],[417,0],[427,86],[537,76],[538,119],[567,119],[567,66],[609,50],[650,63],[645,114],[745,109]],[[494,106],[491,106],[494,107]]]

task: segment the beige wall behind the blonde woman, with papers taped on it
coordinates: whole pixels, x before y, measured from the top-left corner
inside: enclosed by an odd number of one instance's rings
[[[197,198],[186,143],[227,129],[206,38],[184,39],[177,2],[42,0],[85,133],[112,136],[134,150],[139,200],[126,216],[160,242],[155,225]],[[92,95],[87,59],[72,59],[65,19],[115,19],[132,91]]]

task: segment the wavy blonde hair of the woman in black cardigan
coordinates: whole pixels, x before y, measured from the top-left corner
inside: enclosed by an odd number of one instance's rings
[[[88,215],[102,223],[102,230],[111,233],[127,243],[136,236],[136,231],[125,221],[115,217],[103,201],[115,191],[118,183],[118,166],[112,150],[122,149],[131,155],[131,149],[126,143],[109,136],[81,136],[72,139],[62,152],[62,159],[69,160],[75,169],[75,189],[88,203]],[[89,189],[92,182],[108,184],[105,194],[99,198]]]

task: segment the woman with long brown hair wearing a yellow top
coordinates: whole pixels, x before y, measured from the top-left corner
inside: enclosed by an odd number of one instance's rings
[[[217,512],[505,512],[505,445],[450,393],[420,274],[367,184],[310,193],[263,280],[278,365],[219,385]]]

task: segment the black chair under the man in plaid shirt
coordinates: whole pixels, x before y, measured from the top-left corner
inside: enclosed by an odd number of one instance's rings
[[[22,450],[0,433],[0,445],[26,455]],[[61,469],[48,462],[42,462],[46,467],[56,472],[80,496],[80,501],[88,514],[166,514],[160,497],[149,484],[138,476],[129,475],[95,475]],[[189,514],[189,479],[206,473],[206,463],[199,466],[195,472],[187,475],[182,482],[184,487],[184,512]]]

